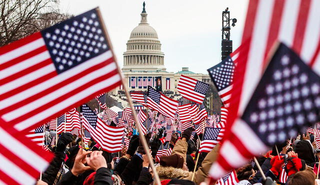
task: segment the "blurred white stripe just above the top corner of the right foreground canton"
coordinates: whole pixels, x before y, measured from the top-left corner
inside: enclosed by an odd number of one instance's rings
[[[293,44],[296,20],[299,13],[300,0],[285,0],[280,22],[279,40],[288,47]],[[273,8],[270,8],[273,9]],[[252,48],[252,47],[251,47]],[[262,60],[259,60],[262,61]]]

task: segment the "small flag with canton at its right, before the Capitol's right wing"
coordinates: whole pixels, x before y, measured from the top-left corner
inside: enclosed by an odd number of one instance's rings
[[[177,90],[183,98],[199,104],[202,104],[208,88],[209,84],[184,75],[180,76],[177,85]]]

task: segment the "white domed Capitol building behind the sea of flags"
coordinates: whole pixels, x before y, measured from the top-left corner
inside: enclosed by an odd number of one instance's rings
[[[211,83],[208,74],[194,73],[188,67],[181,66],[176,73],[166,71],[164,53],[161,51],[161,42],[158,34],[147,22],[147,13],[144,8],[140,13],[140,23],[133,28],[126,42],[126,51],[123,53],[122,72],[130,92],[146,93],[147,86],[156,86],[156,77],[161,77],[162,93],[175,100],[181,99],[176,86],[180,75],[187,75],[205,83]],[[182,65],[182,61],[181,61]],[[109,95],[127,107],[122,86],[114,89]],[[138,108],[139,105],[135,104]]]

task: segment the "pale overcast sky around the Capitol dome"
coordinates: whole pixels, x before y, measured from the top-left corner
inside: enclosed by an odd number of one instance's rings
[[[100,7],[118,63],[130,32],[140,22],[143,0],[60,0],[63,12],[79,14]],[[229,7],[233,50],[241,42],[248,0],[145,0],[147,20],[159,37],[169,72],[189,67],[196,73],[220,62],[221,12]]]

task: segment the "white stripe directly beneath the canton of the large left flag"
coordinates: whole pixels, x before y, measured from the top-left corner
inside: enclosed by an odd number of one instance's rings
[[[22,101],[23,99],[26,99],[30,96],[33,96],[45,89],[48,89],[49,87],[52,87],[78,73],[80,73],[81,71],[84,71],[90,67],[92,67],[95,64],[101,63],[103,61],[105,61],[106,59],[112,57],[112,53],[111,51],[106,51],[94,58],[91,58],[90,60],[79,64],[78,66],[75,66],[71,69],[69,69],[67,72],[61,73],[53,78],[50,78],[36,86],[33,86],[25,91],[22,91],[18,94],[15,94],[7,99],[4,99],[2,101],[0,101],[0,109],[3,109],[7,106],[13,105],[15,103],[18,103],[20,101]]]

